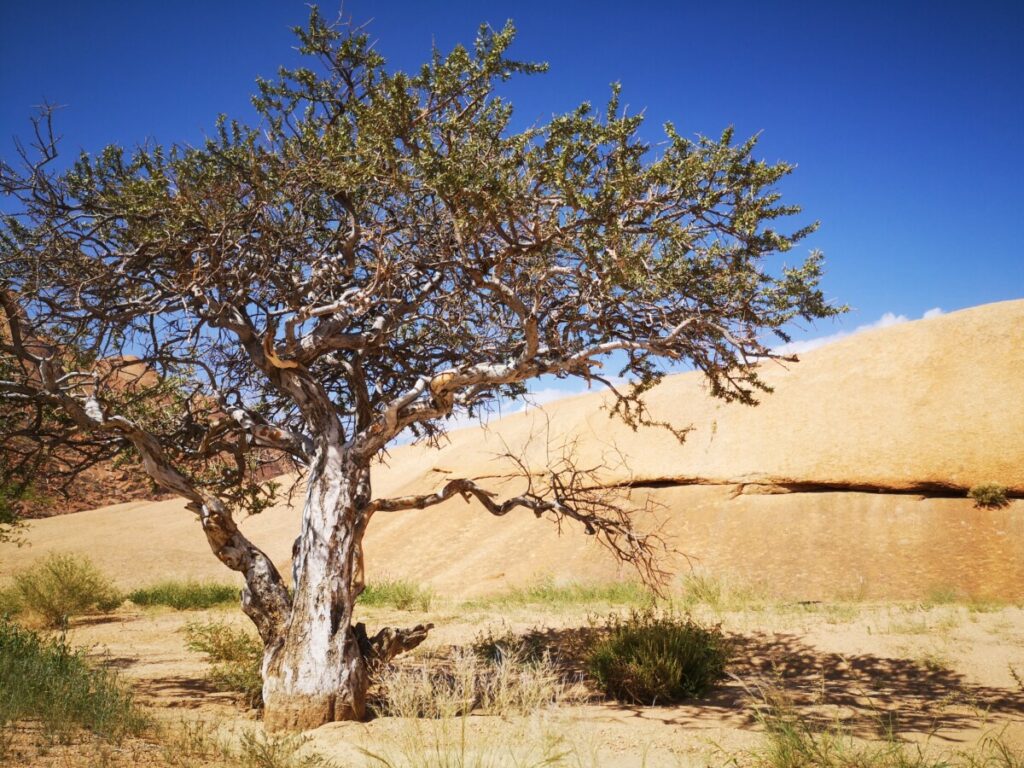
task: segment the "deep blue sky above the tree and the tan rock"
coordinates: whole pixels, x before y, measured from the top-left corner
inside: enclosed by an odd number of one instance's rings
[[[338,9],[323,3],[327,16]],[[378,2],[347,0],[391,67],[514,18],[513,54],[547,75],[510,87],[520,125],[621,81],[650,138],[763,132],[799,164],[783,197],[821,229],[825,289],[849,303],[821,336],[1024,296],[1024,2]],[[257,75],[297,54],[298,0],[0,1],[0,155],[33,105],[66,105],[68,151],[198,142],[249,118]]]

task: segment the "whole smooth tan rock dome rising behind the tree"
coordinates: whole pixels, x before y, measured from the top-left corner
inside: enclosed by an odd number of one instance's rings
[[[660,522],[691,564],[807,599],[837,591],[907,597],[936,586],[989,596],[1024,590],[1024,502],[977,510],[967,487],[995,481],[1024,494],[1024,301],[976,307],[863,333],[765,367],[775,388],[758,408],[711,399],[697,375],[651,393],[654,415],[692,426],[632,432],[595,393],[460,430],[440,451],[396,449],[375,475],[378,496],[426,493],[453,476],[516,489],[500,457],[540,470],[574,440],[603,480],[662,505]],[[617,457],[625,462],[618,462]],[[869,493],[870,492],[870,493]],[[244,527],[283,566],[299,511],[281,507]],[[33,546],[0,549],[0,575],[51,550],[90,553],[136,585],[231,574],[176,500],[131,503],[32,524]],[[380,514],[367,541],[369,575],[384,572],[473,594],[541,575],[628,573],[578,530],[528,512],[495,519],[461,499]],[[287,567],[285,568],[287,570]]]

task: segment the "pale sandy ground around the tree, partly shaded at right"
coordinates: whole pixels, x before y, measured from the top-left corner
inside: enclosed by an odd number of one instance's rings
[[[437,629],[423,653],[471,643],[481,631],[543,629],[569,647],[608,606],[472,607],[440,603],[429,612],[364,611],[370,626],[427,620]],[[736,643],[730,678],[683,707],[604,701],[560,706],[532,718],[472,716],[455,722],[378,718],[308,734],[307,749],[338,765],[372,765],[361,750],[391,759],[425,743],[482,751],[495,765],[563,754],[581,766],[720,766],[759,749],[757,701],[784,695],[808,722],[842,722],[859,737],[891,729],[933,752],[971,748],[1001,733],[1024,749],[1024,609],[911,603],[757,603],[695,614],[721,623]],[[206,680],[201,655],[184,646],[188,622],[244,626],[238,611],[123,610],[81,620],[76,645],[119,670],[162,721],[201,719],[224,732],[259,727],[255,714]],[[546,752],[547,751],[547,752]],[[506,758],[508,763],[506,763]],[[144,761],[139,761],[144,762]]]

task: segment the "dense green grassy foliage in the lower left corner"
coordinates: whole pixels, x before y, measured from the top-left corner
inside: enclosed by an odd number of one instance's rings
[[[90,667],[63,638],[43,640],[0,618],[0,729],[24,720],[63,742],[79,728],[119,741],[147,724],[117,678]]]

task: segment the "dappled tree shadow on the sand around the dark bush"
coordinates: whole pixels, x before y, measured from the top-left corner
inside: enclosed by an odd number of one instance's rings
[[[519,633],[523,647],[547,652],[566,679],[586,675],[586,653],[600,628],[535,629]],[[790,634],[732,634],[728,678],[708,695],[683,705],[638,707],[603,701],[609,718],[624,712],[691,729],[729,725],[753,729],[759,713],[780,710],[808,727],[837,720],[857,735],[949,733],[977,726],[982,717],[1024,718],[1021,692],[980,685],[964,675],[918,660],[870,653],[840,654]],[[599,694],[595,696],[599,699]],[[595,713],[600,719],[600,713]]]

